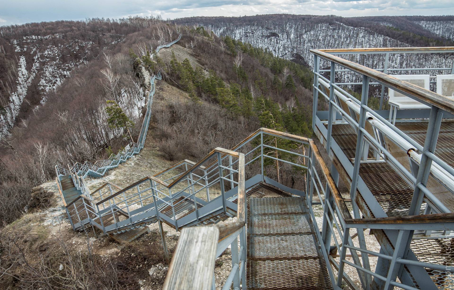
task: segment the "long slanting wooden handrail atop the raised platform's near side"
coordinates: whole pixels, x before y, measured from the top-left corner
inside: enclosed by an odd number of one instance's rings
[[[452,48],[449,48],[452,49]],[[383,83],[385,86],[390,87],[392,89],[400,90],[401,92],[405,92],[414,96],[424,102],[427,102],[433,106],[437,106],[440,109],[447,111],[451,114],[454,114],[454,102],[449,97],[444,97],[440,94],[435,92],[429,91],[417,85],[414,85],[410,82],[405,82],[403,80],[397,79],[393,76],[390,76],[385,73],[381,73],[376,71],[375,69],[365,67],[358,63],[351,62],[344,58],[337,57],[335,55],[326,53],[321,50],[311,49],[311,53],[314,53],[321,58],[325,58],[327,60],[333,61],[334,63],[340,64],[341,66],[351,69],[357,73],[366,75],[378,82]]]

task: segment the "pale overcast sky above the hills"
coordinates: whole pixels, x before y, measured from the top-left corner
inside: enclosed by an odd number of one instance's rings
[[[0,25],[92,17],[160,14],[188,16],[255,14],[452,15],[454,0],[0,0]]]

